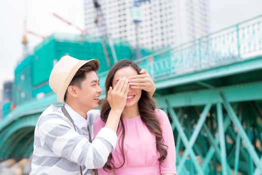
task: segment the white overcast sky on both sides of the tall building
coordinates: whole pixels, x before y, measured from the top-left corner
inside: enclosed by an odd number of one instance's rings
[[[262,14],[262,0],[210,0],[209,21],[216,31]],[[0,89],[2,81],[13,79],[13,71],[22,58],[21,38],[24,0],[0,0]],[[84,27],[83,0],[27,0],[27,29],[41,35],[53,32],[80,33],[52,15],[52,12]],[[40,38],[27,34],[32,49]]]

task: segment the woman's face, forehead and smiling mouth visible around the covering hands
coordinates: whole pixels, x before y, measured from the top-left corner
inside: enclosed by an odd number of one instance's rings
[[[136,70],[130,66],[119,68],[113,76],[112,87],[114,88],[115,84],[120,78],[123,78],[124,76],[128,78],[129,76],[137,74],[138,73],[136,72]],[[129,86],[125,106],[131,107],[137,104],[138,100],[140,99],[141,92],[142,91],[140,89],[133,89]]]

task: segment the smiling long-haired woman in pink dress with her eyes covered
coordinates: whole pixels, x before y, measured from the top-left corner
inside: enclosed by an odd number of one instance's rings
[[[114,88],[122,78],[137,77],[140,70],[130,60],[116,62],[106,77],[105,91]],[[163,110],[155,109],[150,94],[143,86],[137,86],[139,78],[135,81],[129,81],[115,150],[108,156],[103,168],[98,169],[98,174],[112,174],[112,171],[115,175],[176,174],[175,145],[168,117]],[[94,122],[94,135],[104,126],[109,111],[110,105],[105,98],[101,102],[100,118]]]

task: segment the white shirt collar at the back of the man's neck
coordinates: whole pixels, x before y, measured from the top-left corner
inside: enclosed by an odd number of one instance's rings
[[[82,128],[84,125],[87,126],[87,120],[74,111],[67,103],[64,103],[64,107],[77,127]]]

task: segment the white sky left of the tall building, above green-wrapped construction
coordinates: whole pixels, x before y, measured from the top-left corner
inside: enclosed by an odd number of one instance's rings
[[[84,28],[83,0],[27,0],[27,29],[48,36],[53,32],[80,33],[52,15],[62,16]],[[0,0],[0,89],[2,81],[13,79],[17,62],[22,58],[21,39],[25,0]],[[27,34],[32,49],[41,38]]]

